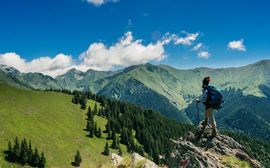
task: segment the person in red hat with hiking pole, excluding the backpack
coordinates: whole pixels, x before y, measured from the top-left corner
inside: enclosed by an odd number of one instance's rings
[[[209,76],[207,76],[207,77],[205,77],[203,79],[203,81],[202,81],[202,89],[203,89],[202,90],[202,98],[201,98],[201,100],[200,99],[196,99],[196,101],[197,101],[197,103],[202,102],[204,104],[204,106],[205,106],[205,111],[204,111],[205,112],[205,115],[204,115],[204,120],[201,123],[201,125],[202,125],[202,129],[201,130],[203,131],[205,129],[205,127],[206,127],[206,125],[207,125],[207,123],[209,121],[209,123],[211,124],[211,127],[212,127],[211,136],[212,137],[215,137],[217,135],[216,121],[215,121],[215,117],[214,117],[214,110],[216,108],[210,102],[210,96],[209,95],[210,95],[210,92],[212,91],[210,89],[213,88],[212,86],[211,86],[211,88],[209,86],[210,80],[211,79],[210,79]],[[221,98],[222,98],[222,96],[221,96]]]

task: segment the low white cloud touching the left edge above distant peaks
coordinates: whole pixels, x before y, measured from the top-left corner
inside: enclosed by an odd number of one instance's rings
[[[0,54],[0,64],[8,65],[21,72],[40,72],[55,77],[73,66],[71,56],[58,54],[54,58],[40,57],[27,61],[16,53]]]

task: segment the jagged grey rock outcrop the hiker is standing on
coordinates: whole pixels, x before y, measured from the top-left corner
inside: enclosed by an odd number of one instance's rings
[[[210,137],[211,129],[207,126],[200,136],[192,132],[187,133],[179,140],[172,140],[175,143],[174,151],[169,159],[169,167],[180,167],[182,160],[188,160],[187,168],[225,168],[229,167],[222,158],[232,157],[236,160],[246,162],[252,168],[261,168],[263,165],[233,138],[225,135]],[[237,165],[234,167],[238,167]]]

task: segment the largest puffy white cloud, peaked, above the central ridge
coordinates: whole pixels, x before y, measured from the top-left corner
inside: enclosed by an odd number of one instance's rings
[[[103,43],[93,43],[80,56],[80,69],[111,70],[118,67],[160,61],[166,57],[162,42],[142,44],[134,40],[132,33],[127,32],[116,44],[106,47]]]

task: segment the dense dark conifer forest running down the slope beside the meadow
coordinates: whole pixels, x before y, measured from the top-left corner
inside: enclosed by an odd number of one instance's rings
[[[105,132],[106,138],[113,140],[111,147],[117,149],[120,143],[125,144],[128,152],[138,152],[142,156],[148,156],[157,164],[166,162],[166,157],[169,157],[173,148],[171,138],[176,139],[188,131],[195,130],[192,125],[180,124],[157,112],[131,103],[120,102],[91,92],[73,92],[72,102],[80,104],[82,109],[87,99],[93,99],[101,105],[101,108],[94,108],[93,111],[90,107],[88,109],[89,137],[94,135],[99,137],[99,129],[95,126],[94,116],[100,115],[107,119]],[[120,139],[117,134],[120,135]],[[160,160],[160,156],[165,159]]]

